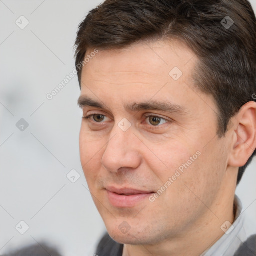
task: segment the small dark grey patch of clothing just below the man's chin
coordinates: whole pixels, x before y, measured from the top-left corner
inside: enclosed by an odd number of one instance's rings
[[[122,256],[123,244],[114,241],[108,233],[98,243],[96,254],[100,256]]]

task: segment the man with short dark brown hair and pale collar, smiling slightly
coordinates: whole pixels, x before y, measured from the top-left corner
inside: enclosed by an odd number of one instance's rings
[[[80,24],[99,256],[256,255],[235,196],[256,148],[255,31],[247,0],[106,0]]]

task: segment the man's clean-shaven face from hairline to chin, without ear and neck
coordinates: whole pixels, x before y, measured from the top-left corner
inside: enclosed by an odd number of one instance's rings
[[[94,116],[82,119],[81,164],[120,243],[153,244],[216,218],[229,142],[216,135],[213,98],[193,85],[197,61],[182,43],[160,41],[99,51],[83,67],[80,103]],[[170,109],[145,108],[155,102]]]

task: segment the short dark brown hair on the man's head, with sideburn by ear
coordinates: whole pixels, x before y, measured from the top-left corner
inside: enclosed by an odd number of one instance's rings
[[[195,84],[218,107],[218,136],[242,105],[255,101],[256,18],[248,0],[106,0],[79,25],[76,69],[88,48],[124,48],[176,38],[199,57]],[[237,184],[245,168],[239,168]]]

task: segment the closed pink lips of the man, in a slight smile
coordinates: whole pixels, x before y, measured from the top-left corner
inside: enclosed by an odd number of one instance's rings
[[[117,208],[134,207],[154,193],[152,191],[137,190],[134,188],[107,187],[105,189],[110,204]]]

